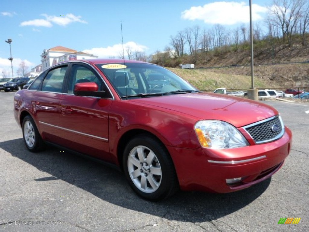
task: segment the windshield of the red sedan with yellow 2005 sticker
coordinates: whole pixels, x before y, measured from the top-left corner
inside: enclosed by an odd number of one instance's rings
[[[98,64],[121,97],[152,97],[198,90],[175,73],[147,63]]]

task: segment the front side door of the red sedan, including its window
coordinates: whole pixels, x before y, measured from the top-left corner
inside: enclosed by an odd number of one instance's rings
[[[112,95],[107,98],[75,96],[74,85],[95,82],[99,90],[109,93],[105,83],[91,66],[73,63],[67,90],[60,101],[62,141],[75,151],[110,161],[108,145],[108,113]]]

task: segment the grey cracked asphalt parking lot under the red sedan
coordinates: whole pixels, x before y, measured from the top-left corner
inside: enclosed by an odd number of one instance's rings
[[[140,199],[117,170],[49,147],[25,148],[15,92],[0,91],[0,231],[309,231],[309,103],[265,101],[293,132],[272,178],[229,193]],[[280,218],[301,218],[278,224]],[[49,225],[51,224],[51,225]]]

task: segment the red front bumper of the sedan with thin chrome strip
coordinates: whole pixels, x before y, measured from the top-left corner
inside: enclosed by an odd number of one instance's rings
[[[195,150],[167,147],[180,188],[186,191],[233,192],[259,183],[281,168],[290,153],[292,133],[276,141],[243,148]],[[227,184],[226,179],[242,178]]]

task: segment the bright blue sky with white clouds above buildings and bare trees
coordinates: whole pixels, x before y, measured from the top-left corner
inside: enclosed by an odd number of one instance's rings
[[[263,25],[267,0],[252,0],[253,20]],[[16,76],[19,63],[40,64],[44,49],[64,46],[109,58],[120,54],[121,23],[124,45],[147,55],[163,51],[171,36],[195,25],[249,24],[248,1],[189,0],[10,0],[0,3],[0,76],[11,76],[9,44]]]

